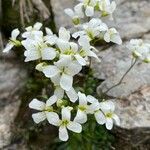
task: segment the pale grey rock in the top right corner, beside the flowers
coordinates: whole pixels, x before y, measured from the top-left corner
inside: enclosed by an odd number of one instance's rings
[[[137,38],[150,31],[150,0],[118,2],[114,21],[122,38]]]

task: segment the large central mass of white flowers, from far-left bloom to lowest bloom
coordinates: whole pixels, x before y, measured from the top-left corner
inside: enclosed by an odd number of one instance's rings
[[[68,140],[67,129],[80,133],[89,114],[93,114],[99,124],[106,124],[107,129],[112,129],[113,120],[119,125],[119,118],[114,114],[114,104],[111,101],[99,102],[73,88],[73,77],[88,63],[88,58],[94,57],[99,61],[89,40],[82,36],[75,43],[71,41],[70,32],[63,27],[58,36],[49,28],[45,28],[44,35],[41,27],[39,22],[33,27],[27,27],[21,35],[22,41],[16,39],[20,34],[19,30],[13,30],[10,42],[4,49],[4,52],[9,52],[13,46],[22,45],[25,49],[25,62],[40,60],[35,68],[54,84],[53,96],[46,103],[37,99],[30,102],[30,108],[40,111],[32,115],[34,122],[40,123],[47,119],[50,124],[58,126],[62,141]],[[64,98],[65,94],[68,100]],[[71,110],[76,112],[74,118]]]

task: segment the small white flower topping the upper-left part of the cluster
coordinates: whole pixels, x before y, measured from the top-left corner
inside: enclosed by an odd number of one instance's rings
[[[29,39],[38,39],[43,36],[43,32],[39,31],[42,27],[42,24],[37,22],[34,24],[34,26],[29,26],[26,29],[26,32],[22,34],[23,38],[29,38]]]

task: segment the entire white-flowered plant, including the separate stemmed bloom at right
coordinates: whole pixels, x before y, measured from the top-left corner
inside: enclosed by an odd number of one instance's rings
[[[73,86],[74,76],[79,74],[84,66],[89,65],[91,58],[100,61],[96,55],[97,50],[93,47],[95,41],[122,44],[118,31],[102,21],[112,20],[115,8],[114,1],[80,0],[74,10],[65,9],[77,32],[71,34],[69,30],[61,27],[58,35],[55,35],[49,28],[45,28],[43,32],[42,24],[37,22],[33,27],[25,28],[22,40],[17,39],[20,31],[14,29],[9,43],[3,50],[9,52],[14,46],[23,46],[25,62],[39,61],[35,69],[51,80],[54,92],[46,102],[36,98],[30,102],[29,107],[37,110],[32,118],[37,124],[47,120],[49,124],[57,126],[62,141],[69,139],[68,130],[81,133],[82,126],[91,115],[98,124],[105,124],[108,130],[113,128],[113,123],[120,124],[119,117],[114,113],[115,105],[112,101],[85,95]],[[76,42],[72,38],[76,39]],[[150,62],[150,44],[133,39],[127,48],[132,52],[133,63],[113,87],[122,83],[137,61]]]

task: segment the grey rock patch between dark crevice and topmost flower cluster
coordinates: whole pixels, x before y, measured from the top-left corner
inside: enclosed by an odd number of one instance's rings
[[[71,18],[65,14],[64,9],[73,8],[75,4],[75,0],[51,0],[57,30],[59,30],[60,27],[72,27]]]

